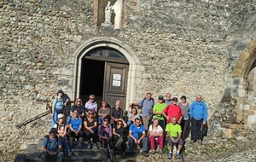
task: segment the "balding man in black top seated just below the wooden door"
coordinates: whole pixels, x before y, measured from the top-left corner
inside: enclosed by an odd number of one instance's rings
[[[115,101],[115,107],[110,110],[110,123],[115,125],[119,119],[123,119],[123,109],[120,107],[121,101]]]

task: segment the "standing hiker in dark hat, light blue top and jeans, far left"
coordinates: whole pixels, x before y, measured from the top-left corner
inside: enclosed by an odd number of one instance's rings
[[[55,125],[55,123],[57,123],[58,121],[58,114],[59,113],[63,113],[64,107],[66,107],[67,102],[69,101],[69,99],[65,99],[64,97],[64,92],[63,90],[58,90],[57,92],[57,97],[55,98],[55,100],[52,103],[52,122],[51,122],[51,127],[53,127]]]

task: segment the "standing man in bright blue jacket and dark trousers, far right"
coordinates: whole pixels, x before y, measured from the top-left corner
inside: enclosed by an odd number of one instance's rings
[[[196,96],[196,101],[191,104],[189,109],[191,119],[191,140],[202,142],[202,125],[207,124],[207,105],[201,101],[201,95]]]

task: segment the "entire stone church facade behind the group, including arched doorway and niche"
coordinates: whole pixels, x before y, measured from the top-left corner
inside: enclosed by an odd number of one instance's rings
[[[3,152],[48,133],[49,116],[15,125],[46,111],[59,89],[75,100],[96,87],[101,99],[119,99],[125,110],[148,91],[154,98],[187,95],[189,102],[200,94],[212,136],[256,129],[255,1],[111,0],[106,11],[107,5],[0,0]]]

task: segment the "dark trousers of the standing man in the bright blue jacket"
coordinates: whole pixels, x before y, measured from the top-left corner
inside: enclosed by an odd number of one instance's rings
[[[191,119],[191,140],[197,141],[197,140],[203,140],[201,127],[203,124],[203,119]]]

